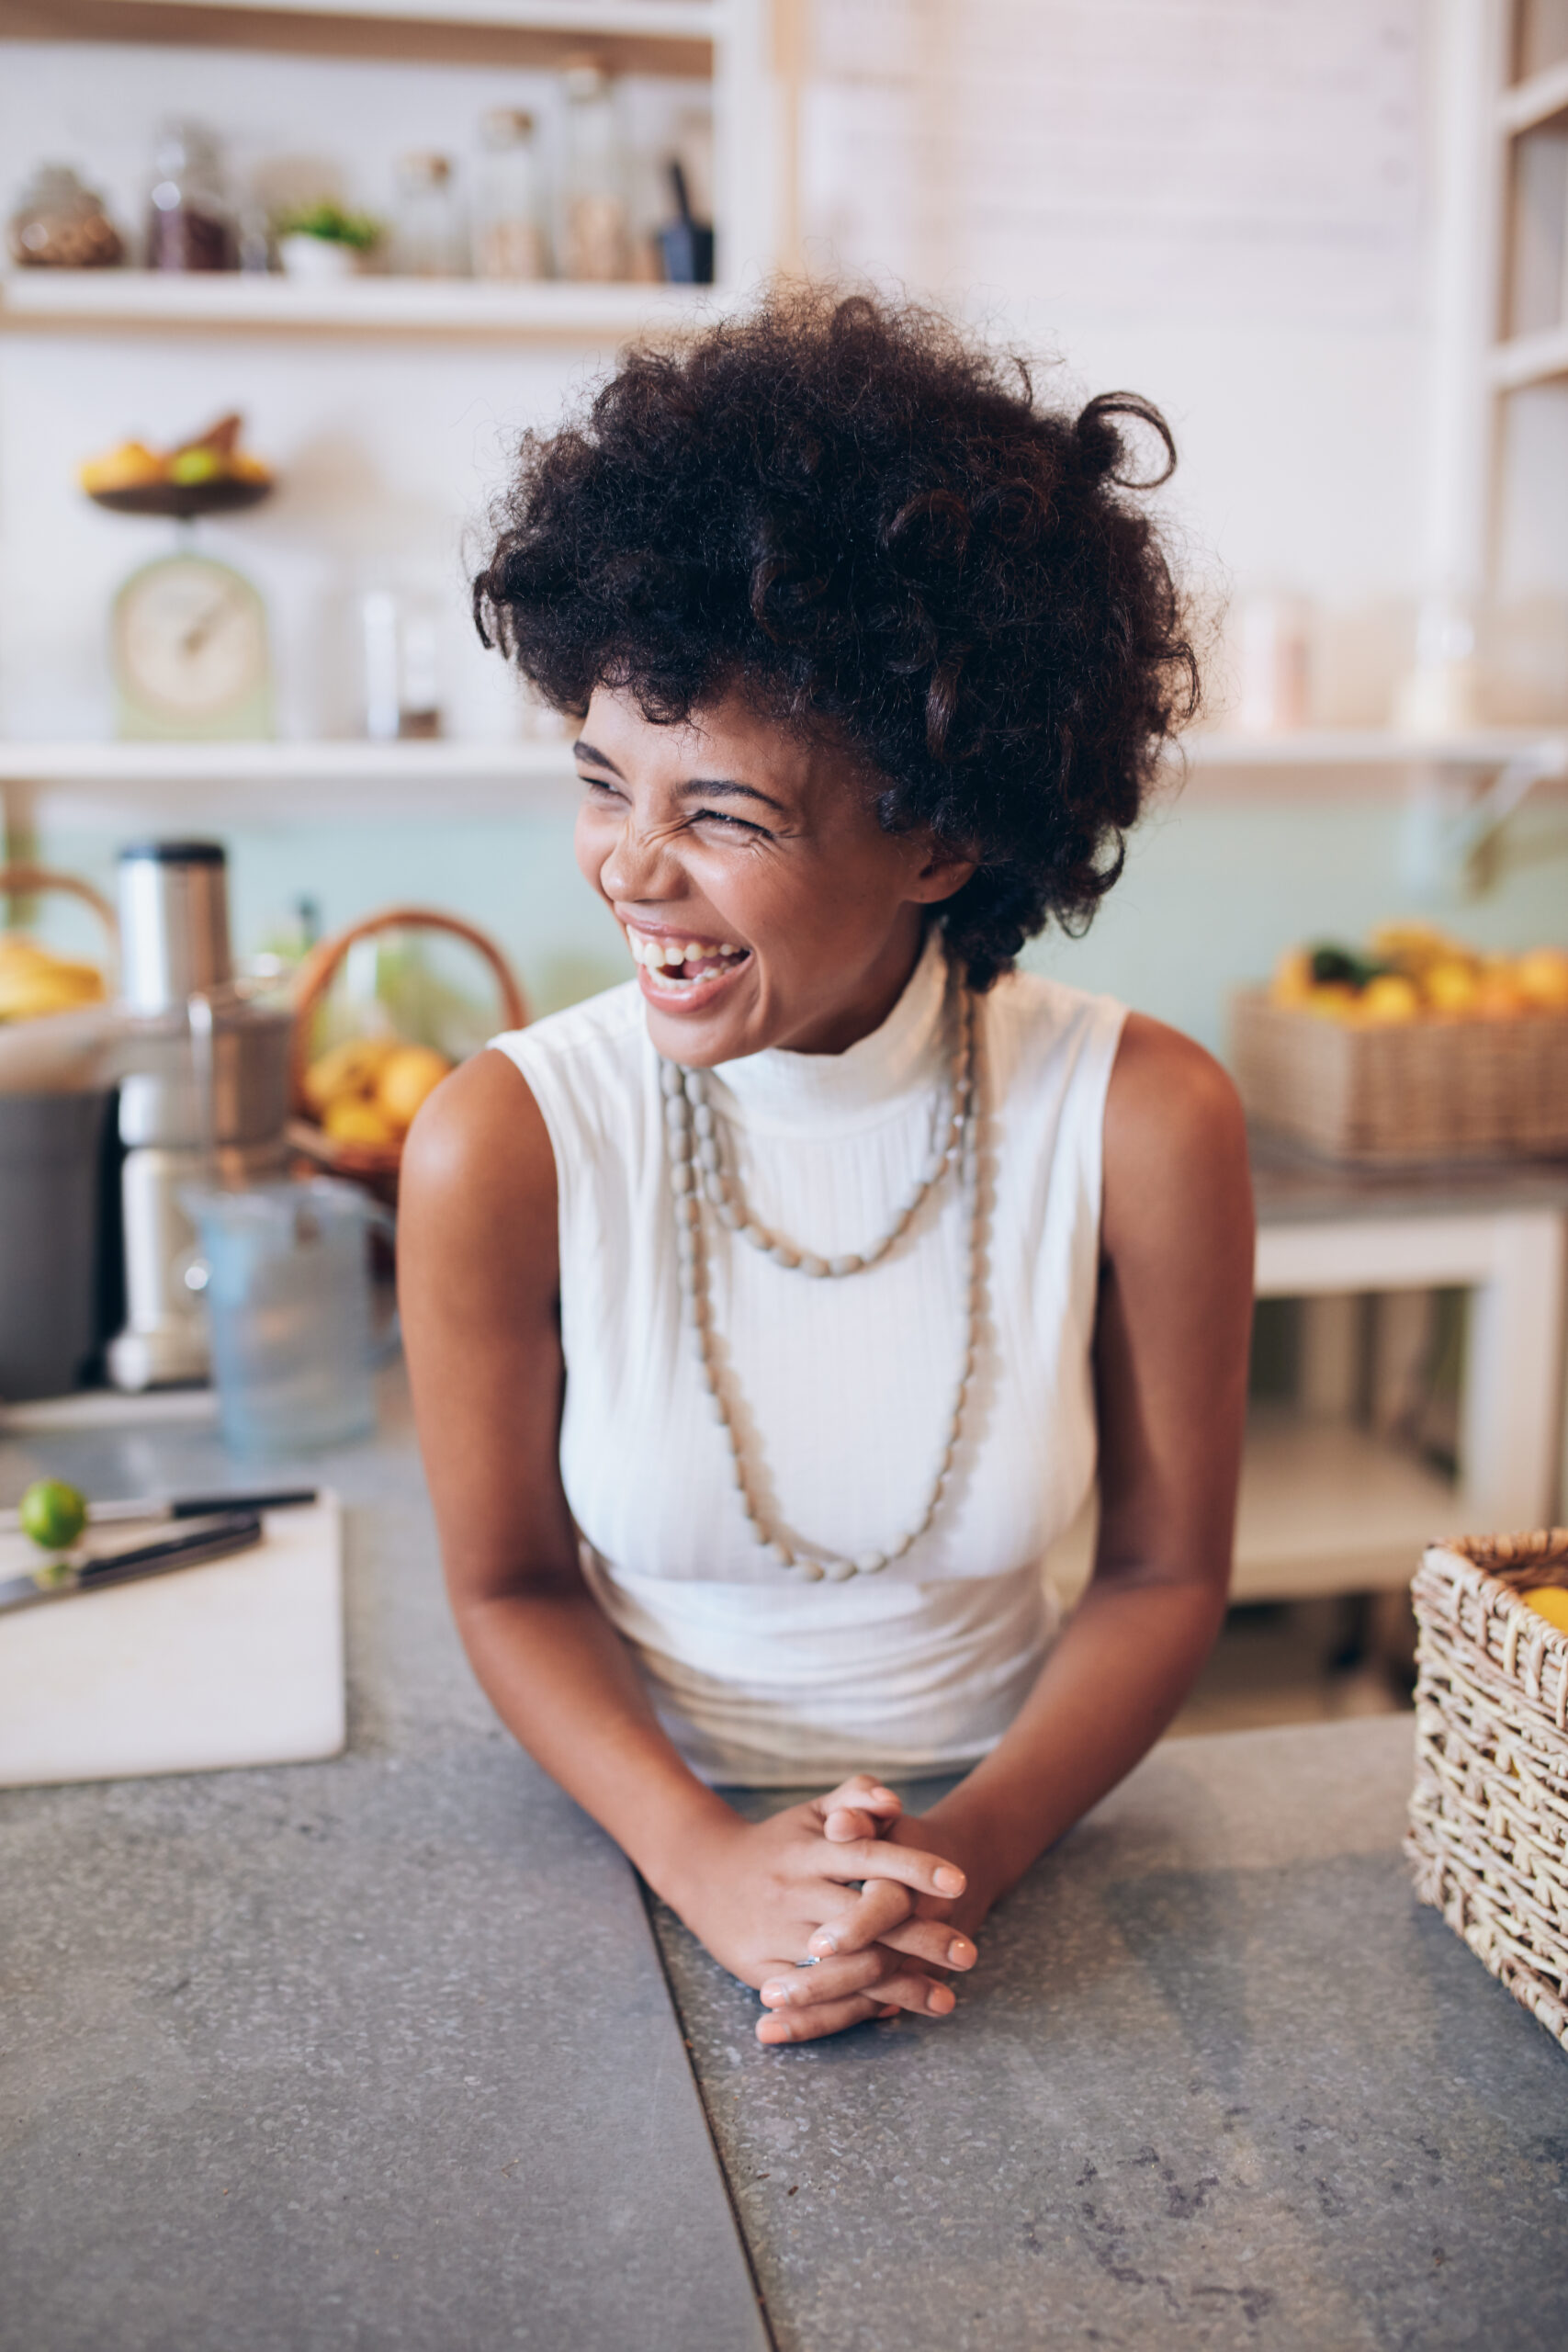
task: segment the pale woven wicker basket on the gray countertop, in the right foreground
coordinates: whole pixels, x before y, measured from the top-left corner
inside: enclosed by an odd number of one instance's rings
[[[1568,1635],[1519,1599],[1568,1590],[1568,1526],[1434,1545],[1406,1853],[1415,1891],[1568,2049]]]

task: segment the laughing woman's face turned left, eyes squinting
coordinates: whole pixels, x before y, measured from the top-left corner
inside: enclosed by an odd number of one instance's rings
[[[884,833],[846,753],[738,694],[654,727],[599,687],[576,760],[578,866],[632,950],[654,1044],[689,1068],[867,1037],[914,969],[922,908],[973,873]]]

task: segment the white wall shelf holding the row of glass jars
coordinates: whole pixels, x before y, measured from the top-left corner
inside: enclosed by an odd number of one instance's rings
[[[437,334],[517,341],[623,341],[689,327],[722,308],[715,287],[494,285],[475,278],[181,278],[162,270],[12,270],[0,327],[268,334]]]

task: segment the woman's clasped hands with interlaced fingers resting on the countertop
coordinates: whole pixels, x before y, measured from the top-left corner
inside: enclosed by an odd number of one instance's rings
[[[985,1912],[950,1844],[856,1773],[769,1820],[715,1823],[677,1907],[759,1990],[759,2042],[816,2042],[900,2009],[943,2018],[945,1973],[973,1969],[966,1926]]]

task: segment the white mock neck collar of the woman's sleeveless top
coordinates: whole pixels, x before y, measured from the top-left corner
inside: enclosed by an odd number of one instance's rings
[[[722,1089],[715,1108],[755,1131],[870,1124],[933,1084],[943,1065],[945,997],[947,953],[940,924],[931,924],[919,962],[882,1028],[844,1054],[766,1047],[741,1061],[722,1061],[712,1070]]]

